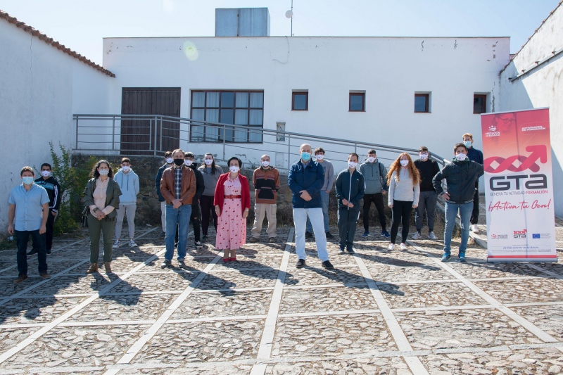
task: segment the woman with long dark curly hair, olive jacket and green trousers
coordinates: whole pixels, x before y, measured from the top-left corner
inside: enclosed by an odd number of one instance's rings
[[[99,160],[91,171],[91,179],[84,189],[84,205],[88,210],[90,234],[90,268],[87,274],[98,272],[100,234],[103,234],[103,266],[111,273],[111,252],[115,217],[118,215],[119,184],[113,181],[113,170],[108,160]]]

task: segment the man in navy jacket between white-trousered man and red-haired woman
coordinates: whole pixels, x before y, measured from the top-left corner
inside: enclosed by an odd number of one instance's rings
[[[339,254],[344,254],[344,246],[348,253],[354,253],[354,235],[356,224],[360,218],[360,202],[365,193],[363,174],[356,170],[358,154],[348,155],[348,168],[336,177],[336,199],[339,202]]]

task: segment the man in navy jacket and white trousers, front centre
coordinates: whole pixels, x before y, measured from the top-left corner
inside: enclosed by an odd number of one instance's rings
[[[333,269],[327,253],[327,236],[324,233],[320,191],[324,184],[324,169],[316,161],[311,160],[311,145],[302,144],[299,148],[301,158],[291,165],[287,184],[293,192],[293,223],[295,223],[295,251],[299,258],[296,268],[305,266],[305,229],[307,217],[310,218],[312,230],[315,232],[317,253],[322,267]]]

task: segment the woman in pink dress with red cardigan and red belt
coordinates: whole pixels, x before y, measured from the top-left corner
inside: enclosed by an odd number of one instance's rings
[[[251,208],[248,179],[242,174],[242,161],[229,159],[229,172],[221,174],[215,186],[215,213],[219,217],[215,248],[223,250],[223,262],[236,260],[236,249],[246,243],[246,217]]]

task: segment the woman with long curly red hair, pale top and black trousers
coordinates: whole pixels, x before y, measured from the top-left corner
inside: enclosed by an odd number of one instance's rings
[[[418,206],[420,195],[420,172],[410,155],[401,153],[397,160],[389,167],[387,185],[389,186],[389,208],[392,209],[391,243],[388,251],[395,250],[395,240],[399,231],[399,224],[403,223],[400,249],[407,250],[407,236],[409,235],[410,212]]]

